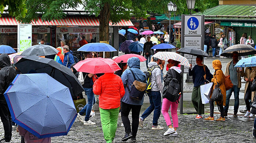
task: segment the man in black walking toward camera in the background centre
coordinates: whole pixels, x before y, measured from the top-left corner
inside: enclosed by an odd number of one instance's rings
[[[144,43],[144,47],[143,47],[143,56],[145,55],[146,60],[146,66],[147,63],[150,62],[151,57],[153,55],[153,51],[152,51],[152,47],[154,46],[152,41],[150,41],[150,36],[147,36],[147,42]],[[148,67],[148,66],[147,66]]]

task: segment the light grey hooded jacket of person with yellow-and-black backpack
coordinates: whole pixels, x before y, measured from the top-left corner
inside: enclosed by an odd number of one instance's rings
[[[161,91],[163,93],[163,85],[161,80],[161,70],[160,66],[157,65],[156,62],[149,62],[149,68],[151,69],[153,66],[158,66],[159,68],[154,68],[151,76],[151,90],[152,91]]]

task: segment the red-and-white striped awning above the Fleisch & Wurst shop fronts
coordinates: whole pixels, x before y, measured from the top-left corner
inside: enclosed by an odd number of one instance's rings
[[[100,22],[98,18],[90,17],[65,17],[60,20],[42,21],[39,18],[37,21],[31,22],[32,25],[38,26],[99,26]],[[18,22],[14,17],[0,17],[0,25],[18,25]],[[109,26],[134,26],[132,22],[121,20],[117,24],[109,22]]]

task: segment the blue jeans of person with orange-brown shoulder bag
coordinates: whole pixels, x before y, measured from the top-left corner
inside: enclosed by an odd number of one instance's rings
[[[232,92],[234,92],[234,98],[235,98],[234,112],[236,112],[236,113],[238,112],[239,91],[240,91],[240,88],[238,88],[237,85],[234,85],[232,88],[230,88],[226,91],[226,106],[224,107],[225,112],[228,112],[228,106],[229,106],[229,101],[230,101],[230,97],[232,95]]]

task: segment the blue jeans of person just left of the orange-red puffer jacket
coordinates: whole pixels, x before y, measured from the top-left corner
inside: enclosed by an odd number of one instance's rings
[[[90,112],[92,110],[92,105],[95,104],[95,98],[94,93],[92,91],[92,88],[83,88],[85,89],[85,94],[87,95],[88,103],[83,106],[83,109],[79,112],[80,115],[83,115],[85,112],[85,121],[89,120]]]

